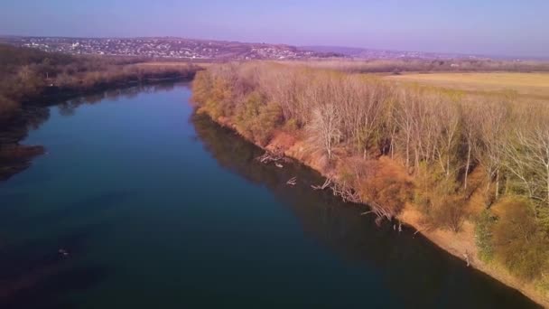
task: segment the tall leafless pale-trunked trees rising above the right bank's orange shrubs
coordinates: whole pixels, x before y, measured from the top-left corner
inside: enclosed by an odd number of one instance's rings
[[[265,62],[214,66],[195,80],[195,89],[203,89],[201,97],[195,93],[199,104],[216,98],[212,108],[224,117],[233,117],[250,94],[259,96],[261,104],[279,107],[280,126],[295,124],[330,160],[386,155],[412,175],[426,171],[433,182],[457,183],[456,193],[481,190],[487,207],[503,195],[524,196],[549,229],[549,108],[543,102]],[[484,180],[471,183],[471,173],[483,173]]]

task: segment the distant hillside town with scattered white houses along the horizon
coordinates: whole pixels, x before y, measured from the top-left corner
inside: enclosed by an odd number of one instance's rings
[[[336,46],[296,47],[286,44],[196,40],[176,37],[143,38],[72,38],[0,36],[0,42],[31,47],[44,52],[163,58],[172,60],[305,60],[314,58],[351,58],[361,60],[421,59],[421,60],[488,60],[507,57],[479,55],[406,52],[349,48]]]

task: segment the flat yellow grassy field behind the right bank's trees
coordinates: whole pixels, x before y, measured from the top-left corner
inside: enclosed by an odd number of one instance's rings
[[[391,75],[386,79],[479,93],[510,90],[520,96],[549,99],[549,73],[425,73]]]

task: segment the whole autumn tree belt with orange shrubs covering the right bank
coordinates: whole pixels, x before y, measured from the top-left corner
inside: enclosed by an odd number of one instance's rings
[[[349,200],[393,215],[414,205],[435,229],[470,220],[480,259],[547,283],[546,102],[269,62],[212,66],[193,90],[199,112],[256,143],[304,141]]]

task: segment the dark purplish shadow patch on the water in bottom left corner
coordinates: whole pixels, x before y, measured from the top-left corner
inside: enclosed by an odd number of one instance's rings
[[[33,239],[0,250],[0,307],[72,308],[64,295],[98,285],[107,267],[79,266],[88,239],[104,224],[71,230],[54,239]]]

